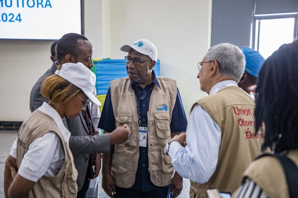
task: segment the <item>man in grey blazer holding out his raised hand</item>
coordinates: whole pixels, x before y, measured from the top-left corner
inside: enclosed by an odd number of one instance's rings
[[[91,59],[93,55],[93,47],[88,39],[80,34],[65,34],[58,41],[56,50],[58,61],[54,62],[52,67],[38,79],[31,90],[30,110],[32,112],[35,111],[35,109],[38,109],[42,103],[49,102],[48,99],[41,95],[40,88],[44,78],[55,73],[57,70],[57,65],[67,62],[81,62],[89,69],[94,66]],[[96,90],[94,95],[97,95]],[[99,118],[100,113],[98,106],[94,104],[88,104],[86,113],[82,112],[79,117],[76,117],[73,120],[66,118],[63,119],[64,125],[72,134],[69,140],[69,148],[72,151],[75,167],[78,171],[77,197],[87,197],[88,195],[89,183],[90,179],[92,179],[90,171],[92,168],[90,168],[90,164],[92,164],[90,163],[92,154],[94,156],[96,153],[95,174],[93,177],[95,178],[98,176],[101,167],[101,155],[99,153],[108,153],[110,144],[112,144],[114,141],[120,141],[119,144],[121,144],[127,140],[125,139],[127,136],[127,131],[118,128],[118,130],[116,129],[114,131],[115,133],[112,136],[108,133],[92,136],[91,134],[93,132],[95,133],[95,131],[97,131],[97,134],[100,133],[100,129],[95,127],[95,125],[97,126],[99,122]]]

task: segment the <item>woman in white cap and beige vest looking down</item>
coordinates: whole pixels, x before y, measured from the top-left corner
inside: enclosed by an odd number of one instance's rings
[[[69,149],[70,132],[62,118],[73,119],[89,101],[95,75],[82,63],[58,65],[41,94],[49,99],[23,122],[4,171],[5,197],[77,197],[77,170]],[[127,125],[121,127],[128,131]],[[18,172],[16,172],[16,169]]]

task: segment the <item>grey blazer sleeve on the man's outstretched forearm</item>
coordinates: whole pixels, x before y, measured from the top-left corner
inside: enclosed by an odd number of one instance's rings
[[[69,148],[75,154],[109,153],[110,134],[95,136],[75,136],[69,139]]]

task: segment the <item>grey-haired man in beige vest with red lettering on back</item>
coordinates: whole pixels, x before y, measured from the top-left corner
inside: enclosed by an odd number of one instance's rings
[[[187,133],[164,149],[176,171],[191,180],[190,197],[206,197],[209,185],[234,192],[246,167],[261,154],[265,135],[254,134],[254,100],[237,86],[244,68],[243,53],[229,43],[213,46],[198,63],[201,90],[209,95],[193,105]]]

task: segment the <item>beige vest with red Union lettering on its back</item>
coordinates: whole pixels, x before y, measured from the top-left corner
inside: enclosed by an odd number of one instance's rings
[[[249,164],[261,154],[265,137],[254,136],[254,100],[241,88],[232,86],[198,100],[221,130],[216,170],[205,184],[190,181],[190,197],[206,197],[205,189],[211,184],[221,191],[234,192],[241,175]],[[192,108],[193,109],[193,108]]]

